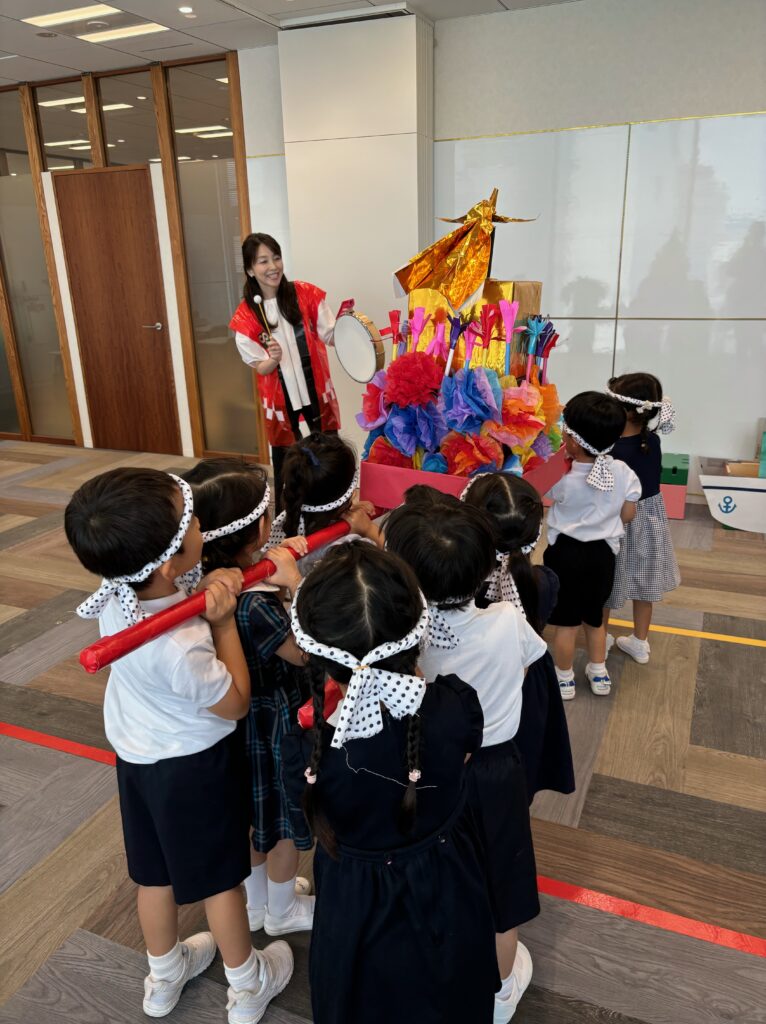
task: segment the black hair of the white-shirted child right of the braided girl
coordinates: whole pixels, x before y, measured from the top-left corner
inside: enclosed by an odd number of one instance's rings
[[[386,548],[412,566],[426,599],[460,608],[478,592],[495,566],[486,515],[451,495],[416,485],[386,519]],[[456,598],[464,600],[456,603]]]

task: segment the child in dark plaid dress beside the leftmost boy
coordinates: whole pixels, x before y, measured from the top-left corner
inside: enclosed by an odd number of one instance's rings
[[[186,473],[186,480],[204,531],[205,571],[247,568],[268,537],[270,493],[263,470],[240,459],[207,459]],[[306,550],[302,537],[285,544],[299,553]],[[305,895],[306,881],[296,878],[298,851],[310,850],[313,840],[305,820],[290,820],[280,766],[282,737],[295,725],[308,681],[306,656],[296,646],[279,593],[279,586],[289,592],[298,586],[298,566],[284,548],[273,548],[269,558],[276,572],[240,595],[236,614],[251,686],[245,742],[253,794],[253,866],[245,888],[251,930],[286,935],[310,930],[313,920],[313,896]]]

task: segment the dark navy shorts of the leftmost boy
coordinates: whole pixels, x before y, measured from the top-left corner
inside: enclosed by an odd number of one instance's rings
[[[196,903],[250,874],[250,785],[241,728],[198,754],[117,759],[128,873]]]

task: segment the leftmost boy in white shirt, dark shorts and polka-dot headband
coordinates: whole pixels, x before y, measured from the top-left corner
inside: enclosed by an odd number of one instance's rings
[[[104,577],[77,610],[117,633],[182,600],[178,580],[202,553],[192,489],[170,473],[116,469],[84,483],[67,506],[67,538]],[[242,574],[207,581],[207,623],[193,618],[112,667],[103,705],[117,752],[128,871],[150,973],[143,1012],[164,1017],[215,954],[229,984],[229,1024],[256,1024],[287,985],[286,942],[252,947],[240,884],[250,870],[248,794],[237,720],[250,680],[233,611]],[[210,932],[178,941],[178,904],[205,901]]]

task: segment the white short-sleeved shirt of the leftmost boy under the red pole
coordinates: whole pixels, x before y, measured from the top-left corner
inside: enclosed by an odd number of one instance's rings
[[[140,605],[153,614],[185,596],[179,591]],[[98,626],[101,636],[127,626],[116,597]],[[230,685],[210,626],[199,616],[190,618],[114,663],[103,699],[107,738],[123,761],[134,764],[205,751],[237,728],[207,710]]]

